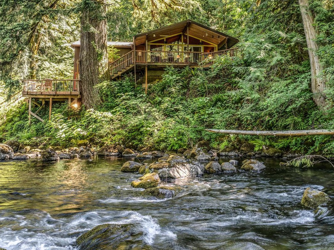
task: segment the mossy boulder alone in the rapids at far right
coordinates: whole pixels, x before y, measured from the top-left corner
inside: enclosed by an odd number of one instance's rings
[[[301,204],[315,209],[320,205],[327,204],[329,201],[331,201],[331,198],[326,193],[313,188],[307,188],[304,191]]]

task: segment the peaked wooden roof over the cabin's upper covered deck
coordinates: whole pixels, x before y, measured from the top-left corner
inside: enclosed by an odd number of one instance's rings
[[[190,36],[217,44],[218,49],[224,45],[226,39],[227,48],[231,48],[233,45],[239,42],[238,39],[232,36],[226,35],[218,30],[211,29],[205,25],[188,19],[169,26],[161,27],[158,29],[147,31],[142,34],[135,35],[134,37],[136,40],[136,46],[145,44],[146,39],[148,42],[150,42],[157,40],[158,38],[163,39],[166,36],[172,36],[173,34],[186,34],[187,28],[189,30]]]

